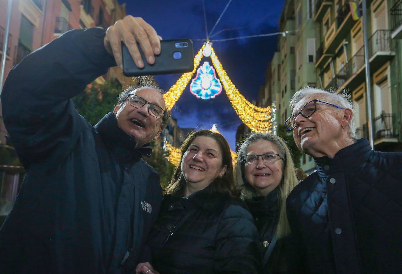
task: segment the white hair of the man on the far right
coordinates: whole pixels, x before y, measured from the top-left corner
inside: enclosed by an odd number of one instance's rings
[[[306,87],[305,89],[301,89],[297,91],[292,99],[289,101],[289,107],[291,113],[293,113],[293,109],[295,108],[296,104],[299,103],[301,99],[306,97],[307,95],[314,94],[314,93],[321,93],[328,98],[329,102],[328,103],[334,103],[335,105],[338,105],[339,107],[343,107],[344,109],[351,109],[352,110],[352,120],[351,123],[349,124],[349,132],[351,135],[351,138],[353,140],[357,140],[356,136],[356,122],[355,122],[355,109],[353,107],[353,103],[350,101],[351,95],[347,92],[346,89],[340,89],[340,91],[336,90],[329,90],[325,91],[323,89],[316,89],[312,87]]]

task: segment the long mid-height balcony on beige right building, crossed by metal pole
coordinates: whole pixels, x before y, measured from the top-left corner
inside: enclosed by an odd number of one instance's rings
[[[369,62],[371,73],[377,71],[381,66],[394,58],[395,52],[392,51],[393,41],[390,39],[389,30],[377,30],[368,39]],[[364,46],[347,62],[345,68],[340,70],[326,89],[348,88],[350,91],[356,89],[365,81],[365,58]]]

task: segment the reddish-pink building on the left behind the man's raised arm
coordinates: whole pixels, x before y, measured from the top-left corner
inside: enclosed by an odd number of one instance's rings
[[[13,0],[10,28],[6,33],[7,5],[7,0],[0,0],[1,59],[8,36],[4,79],[8,71],[25,56],[62,33],[96,26],[107,28],[126,15],[125,5],[120,5],[117,0]],[[98,78],[97,82],[112,79],[119,80],[123,87],[129,83],[129,79],[117,67]],[[6,135],[0,103],[0,225],[14,204],[24,174]]]

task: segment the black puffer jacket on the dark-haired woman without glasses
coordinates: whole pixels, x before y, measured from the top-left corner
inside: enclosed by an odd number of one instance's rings
[[[240,199],[212,194],[164,196],[148,244],[161,274],[260,273],[258,232]]]

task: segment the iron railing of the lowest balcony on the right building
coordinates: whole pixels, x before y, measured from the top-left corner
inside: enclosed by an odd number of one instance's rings
[[[382,113],[373,119],[373,141],[381,138],[396,138],[392,122],[395,119],[394,113]],[[356,129],[357,138],[369,138],[367,123]]]

